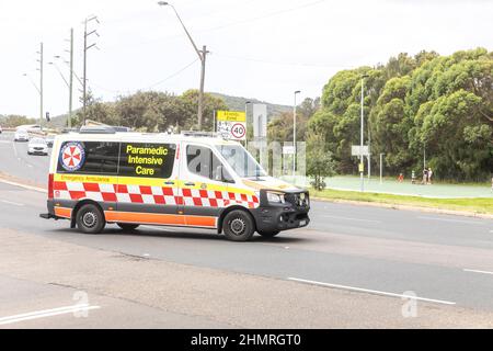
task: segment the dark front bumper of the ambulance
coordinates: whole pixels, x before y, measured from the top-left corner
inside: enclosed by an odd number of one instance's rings
[[[265,192],[261,192],[260,207],[253,211],[256,229],[260,231],[280,231],[302,228],[309,225],[309,200],[305,206],[291,203],[272,204],[267,201]]]

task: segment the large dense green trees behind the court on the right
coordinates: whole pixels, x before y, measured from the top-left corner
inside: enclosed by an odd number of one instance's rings
[[[400,54],[387,65],[334,75],[322,106],[308,123],[324,136],[335,168],[354,173],[351,145],[359,144],[360,77],[365,79],[364,138],[372,154],[386,154],[392,172],[422,167],[426,147],[438,178],[486,179],[493,169],[493,53],[484,48],[439,56]],[[376,162],[376,160],[374,160]]]

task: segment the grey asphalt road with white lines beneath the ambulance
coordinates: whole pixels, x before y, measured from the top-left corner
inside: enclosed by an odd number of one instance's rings
[[[9,137],[0,172],[43,186],[48,158]],[[490,219],[313,202],[308,228],[236,244],[148,226],[82,235],[41,219],[45,204],[0,182],[0,328],[493,327]],[[89,317],[53,310],[76,292]]]

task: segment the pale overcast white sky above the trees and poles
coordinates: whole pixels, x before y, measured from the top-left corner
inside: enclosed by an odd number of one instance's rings
[[[171,2],[171,1],[170,1]],[[339,70],[385,64],[422,49],[449,55],[493,49],[493,0],[174,0],[197,46],[207,45],[205,89],[293,104],[316,98]],[[39,116],[38,54],[44,43],[44,111],[68,111],[67,39],[82,78],[83,21],[96,35],[88,84],[103,101],[138,90],[198,89],[200,63],[172,8],[154,0],[0,0],[0,114]],[[54,61],[56,66],[48,65]],[[27,76],[24,76],[26,73]],[[36,86],[36,87],[35,87]],[[74,79],[74,109],[81,86]],[[299,98],[298,98],[299,99]]]

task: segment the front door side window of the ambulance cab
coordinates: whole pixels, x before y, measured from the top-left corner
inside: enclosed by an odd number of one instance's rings
[[[188,145],[186,147],[186,163],[188,170],[194,174],[219,182],[233,182],[221,161],[208,147]]]

